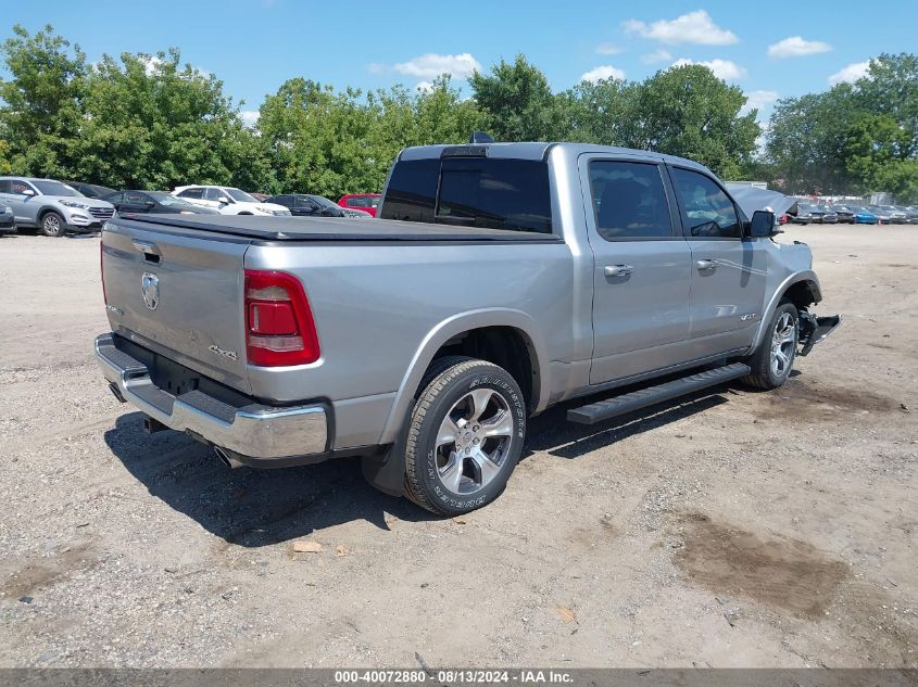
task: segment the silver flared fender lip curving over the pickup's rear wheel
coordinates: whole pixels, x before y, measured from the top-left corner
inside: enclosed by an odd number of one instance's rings
[[[538,412],[544,409],[548,405],[550,383],[548,354],[536,320],[523,310],[511,308],[468,310],[441,321],[427,332],[427,335],[420,342],[399,385],[395,400],[392,404],[392,409],[389,411],[386,428],[382,430],[382,436],[379,440],[380,444],[391,444],[395,441],[399,430],[402,428],[411,410],[415,391],[417,391],[420,384],[424,372],[427,371],[440,347],[453,336],[458,336],[467,331],[482,327],[511,327],[518,330],[526,338],[532,355],[532,370],[536,372],[532,389],[536,403],[533,404],[535,407],[530,408],[530,412]]]

